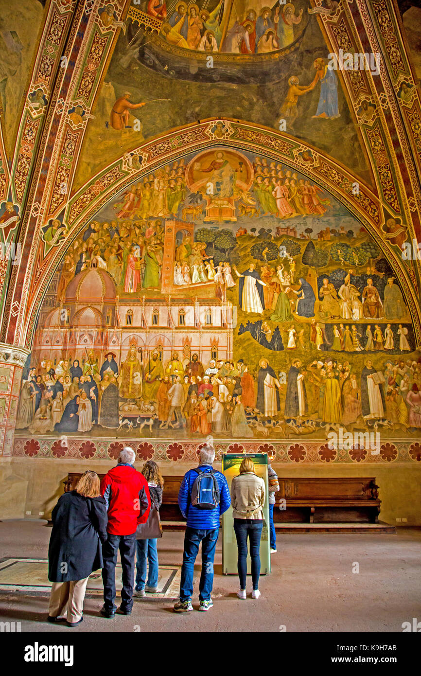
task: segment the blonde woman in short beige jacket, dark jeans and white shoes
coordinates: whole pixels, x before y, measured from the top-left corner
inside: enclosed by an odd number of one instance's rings
[[[238,571],[240,589],[237,596],[246,598],[247,579],[247,537],[250,541],[252,598],[259,598],[260,575],[260,538],[262,537],[265,502],[265,483],[255,474],[250,458],[244,458],[240,465],[240,474],[232,479],[231,505],[234,517],[234,531],[239,549]]]

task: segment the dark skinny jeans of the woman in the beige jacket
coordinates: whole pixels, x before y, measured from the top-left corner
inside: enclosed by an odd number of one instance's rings
[[[239,548],[238,571],[240,589],[245,589],[247,579],[247,535],[250,540],[251,581],[253,589],[259,588],[260,575],[260,538],[263,520],[260,518],[234,518],[234,532]]]

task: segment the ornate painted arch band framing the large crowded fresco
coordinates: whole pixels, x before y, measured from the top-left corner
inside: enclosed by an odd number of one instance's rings
[[[389,205],[380,201],[370,187],[343,165],[314,147],[311,147],[281,132],[274,132],[256,124],[237,120],[222,120],[226,135],[220,139],[214,135],[219,118],[203,120],[162,135],[154,141],[147,141],[132,153],[125,153],[120,160],[93,177],[69,201],[64,214],[68,228],[63,239],[45,260],[36,285],[22,295],[21,307],[26,309],[26,320],[22,322],[19,341],[30,345],[34,322],[43,295],[61,259],[68,251],[78,233],[95,218],[103,206],[121,191],[141,180],[154,170],[174,162],[183,156],[212,147],[247,149],[264,153],[276,162],[282,162],[290,170],[298,171],[327,193],[335,197],[366,228],[370,237],[387,251],[394,274],[402,285],[410,306],[417,344],[421,343],[421,324],[418,308],[418,261],[402,259],[399,246],[385,239],[385,224],[393,218]],[[303,160],[303,156],[305,160]],[[307,157],[309,160],[307,161]],[[134,158],[139,158],[139,165]],[[134,165],[134,166],[133,166]],[[399,218],[397,219],[399,222]],[[410,233],[407,231],[407,237]]]

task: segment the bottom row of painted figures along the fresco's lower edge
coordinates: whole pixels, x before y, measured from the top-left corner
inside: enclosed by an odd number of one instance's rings
[[[276,375],[266,359],[251,373],[243,360],[210,360],[197,354],[163,364],[153,352],[145,364],[132,345],[120,365],[108,353],[101,368],[93,352],[53,366],[30,366],[22,383],[18,429],[30,433],[85,433],[105,429],[184,430],[184,434],[308,434],[317,426],[362,425],[382,420],[402,428],[421,427],[421,359],[387,362],[378,370],[366,359],[360,376],[352,364],[332,359],[303,365],[293,359],[288,374]]]

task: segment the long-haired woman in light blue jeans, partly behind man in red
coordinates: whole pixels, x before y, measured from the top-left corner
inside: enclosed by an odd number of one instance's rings
[[[153,508],[159,512],[159,507],[162,505],[162,493],[164,487],[164,479],[159,472],[159,466],[153,460],[145,462],[142,468],[142,474],[145,477],[151,496],[151,512],[145,524],[145,531],[151,521],[151,514]],[[138,537],[138,535],[137,535]],[[148,562],[148,575],[146,583],[146,562]],[[157,538],[145,538],[136,540],[136,585],[134,590],[135,596],[145,597],[146,592],[155,594],[157,592],[158,584],[158,552],[157,552]]]

